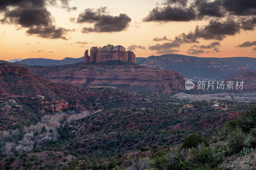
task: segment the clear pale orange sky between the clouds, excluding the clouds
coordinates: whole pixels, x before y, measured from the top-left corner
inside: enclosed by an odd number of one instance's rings
[[[58,7],[47,7],[55,17],[55,23],[67,29],[76,29],[75,32],[70,32],[68,40],[63,39],[44,39],[36,36],[26,35],[26,29],[16,25],[0,24],[0,60],[25,59],[25,58],[50,58],[63,59],[65,57],[78,58],[84,55],[86,49],[92,46],[104,46],[108,44],[122,45],[125,48],[131,45],[145,46],[146,49],[134,50],[136,57],[148,57],[155,55],[156,51],[149,50],[148,46],[156,43],[163,44],[165,41],[155,42],[153,38],[167,36],[169,39],[185,32],[193,31],[196,25],[206,25],[207,20],[190,21],[190,22],[168,22],[143,23],[142,18],[148,15],[148,12],[156,7],[156,0],[130,0],[130,1],[113,1],[113,0],[73,0],[70,6],[77,6],[76,11],[67,12],[66,9]],[[120,13],[127,14],[131,19],[130,26],[121,32],[112,33],[82,33],[81,29],[90,24],[71,23],[69,18],[77,18],[81,11],[86,8],[99,8],[107,6],[109,14],[118,16]],[[1,14],[0,14],[1,16]],[[0,17],[1,18],[1,17]],[[238,44],[245,41],[255,41],[256,31],[241,31],[235,36],[227,36],[220,41],[219,53],[202,53],[195,54],[198,57],[255,57],[256,51],[252,49],[255,46],[238,48]],[[78,41],[88,42],[81,47],[81,44],[76,44]],[[215,40],[199,39],[200,45],[208,45]],[[188,54],[187,50],[194,44],[184,44],[178,48],[179,54]],[[207,50],[206,50],[207,51]],[[159,55],[159,54],[156,54]]]

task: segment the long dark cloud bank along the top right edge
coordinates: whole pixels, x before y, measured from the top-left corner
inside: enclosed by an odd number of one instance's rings
[[[148,21],[191,21],[205,17],[255,16],[255,0],[165,0],[149,11]]]

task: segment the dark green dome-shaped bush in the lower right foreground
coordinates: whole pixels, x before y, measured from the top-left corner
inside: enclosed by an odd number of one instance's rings
[[[196,133],[191,134],[189,137],[184,139],[181,148],[192,148],[196,147],[198,144],[203,143],[205,146],[209,146],[209,141],[203,135],[198,135]]]

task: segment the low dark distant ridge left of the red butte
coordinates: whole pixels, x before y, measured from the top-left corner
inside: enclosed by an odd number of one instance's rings
[[[82,61],[84,61],[84,57],[80,57],[80,58],[66,57],[62,60],[29,58],[21,61],[15,61],[15,63],[27,64],[27,65],[38,65],[38,66],[52,66],[52,65],[76,64]]]

